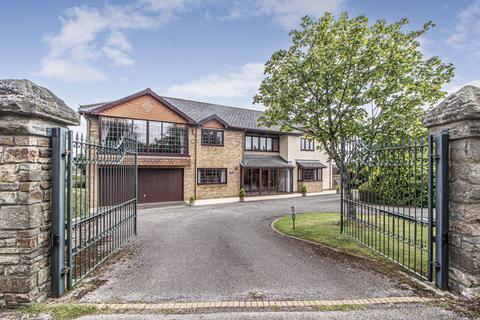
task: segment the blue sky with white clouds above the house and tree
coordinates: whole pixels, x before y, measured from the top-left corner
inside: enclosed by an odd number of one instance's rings
[[[0,78],[25,78],[76,109],[145,88],[160,95],[253,105],[263,65],[290,46],[304,15],[429,20],[426,56],[453,63],[445,87],[480,86],[480,0],[3,0]]]

